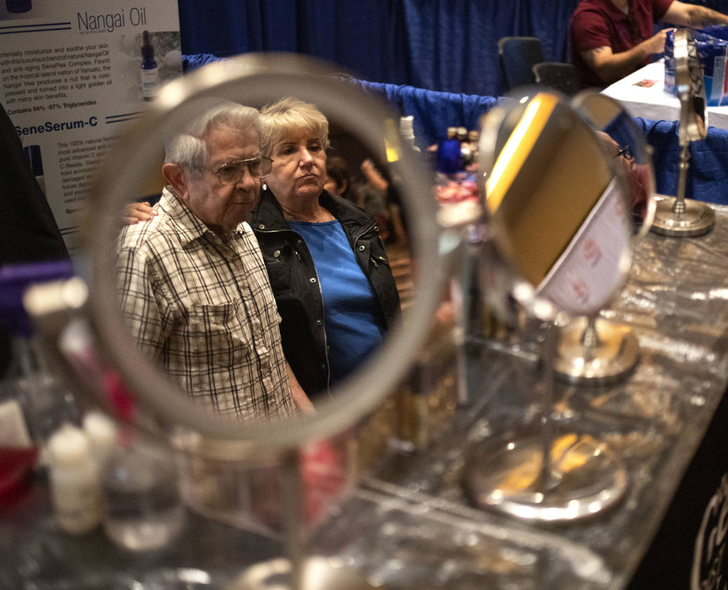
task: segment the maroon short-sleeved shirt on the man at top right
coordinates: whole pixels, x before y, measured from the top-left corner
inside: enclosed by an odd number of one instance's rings
[[[627,51],[652,36],[654,23],[673,0],[630,0],[625,15],[612,0],[582,0],[571,15],[571,63],[577,68],[582,87],[604,87],[581,52],[612,47],[612,53]],[[649,63],[649,59],[645,63]],[[643,64],[644,65],[644,64]]]

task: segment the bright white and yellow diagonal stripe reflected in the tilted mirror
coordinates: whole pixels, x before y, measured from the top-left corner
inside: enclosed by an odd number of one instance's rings
[[[498,154],[491,176],[486,181],[486,198],[491,213],[495,213],[498,209],[515,177],[521,171],[557,102],[558,98],[554,95],[539,93],[523,111],[521,120]]]

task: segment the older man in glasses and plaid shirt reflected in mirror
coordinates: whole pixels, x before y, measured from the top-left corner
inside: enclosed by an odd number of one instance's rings
[[[124,228],[117,257],[122,312],[143,352],[205,409],[242,419],[310,407],[245,223],[271,169],[259,133],[256,109],[224,103],[173,138],[157,215]]]

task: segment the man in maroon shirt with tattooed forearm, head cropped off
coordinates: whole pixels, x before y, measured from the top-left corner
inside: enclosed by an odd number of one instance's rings
[[[571,17],[571,61],[583,87],[604,87],[641,68],[665,50],[666,30],[726,25],[720,12],[677,0],[582,0]]]

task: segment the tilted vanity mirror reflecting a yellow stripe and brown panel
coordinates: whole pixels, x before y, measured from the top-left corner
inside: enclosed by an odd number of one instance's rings
[[[512,98],[483,122],[486,210],[523,279],[512,294],[538,317],[596,312],[628,272],[625,178],[607,149],[604,135],[546,91]]]

